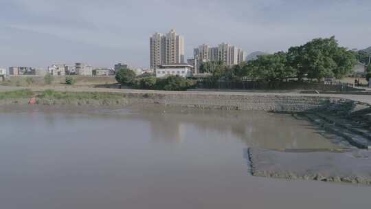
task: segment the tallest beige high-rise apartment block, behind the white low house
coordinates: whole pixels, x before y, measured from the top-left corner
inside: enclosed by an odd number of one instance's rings
[[[150,68],[159,65],[184,63],[184,38],[170,30],[168,34],[153,34],[150,37]]]

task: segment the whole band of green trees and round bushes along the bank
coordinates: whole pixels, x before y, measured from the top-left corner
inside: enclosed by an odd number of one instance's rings
[[[313,39],[308,43],[290,47],[287,52],[276,52],[258,56],[256,60],[247,61],[229,67],[222,61],[202,63],[199,72],[209,74],[203,78],[205,83],[220,81],[267,84],[277,87],[289,80],[298,83],[320,82],[323,78],[344,78],[352,73],[360,52],[340,47],[332,36],[328,39]],[[368,67],[371,77],[371,66]],[[185,90],[196,85],[196,79],[177,78],[138,78],[130,69],[122,69],[116,76],[117,82],[135,89]],[[213,86],[213,85],[209,85]]]

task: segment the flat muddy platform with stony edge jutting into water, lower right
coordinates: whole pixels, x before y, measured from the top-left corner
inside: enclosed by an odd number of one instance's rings
[[[371,151],[368,150],[273,151],[249,148],[247,156],[251,174],[257,177],[371,184]]]

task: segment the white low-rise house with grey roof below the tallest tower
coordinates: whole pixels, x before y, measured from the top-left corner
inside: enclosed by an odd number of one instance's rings
[[[156,69],[156,77],[181,76],[187,78],[192,76],[192,69],[193,66],[188,64],[159,65]]]

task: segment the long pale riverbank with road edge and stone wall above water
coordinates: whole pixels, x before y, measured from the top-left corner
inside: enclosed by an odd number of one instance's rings
[[[0,92],[23,90],[25,88],[0,87]],[[30,89],[35,95],[43,94],[45,87]],[[210,91],[149,91],[134,89],[94,89],[78,87],[55,87],[56,94],[47,98],[39,98],[39,104],[164,104],[167,106],[194,107],[199,109],[235,109],[262,111],[309,111],[323,107],[328,102],[354,101],[371,104],[369,96],[359,95],[322,95],[322,94],[291,94],[262,92],[210,92]],[[6,93],[3,93],[6,94]],[[30,95],[3,97],[6,102],[27,102],[22,99]],[[1,96],[0,96],[1,98]]]

